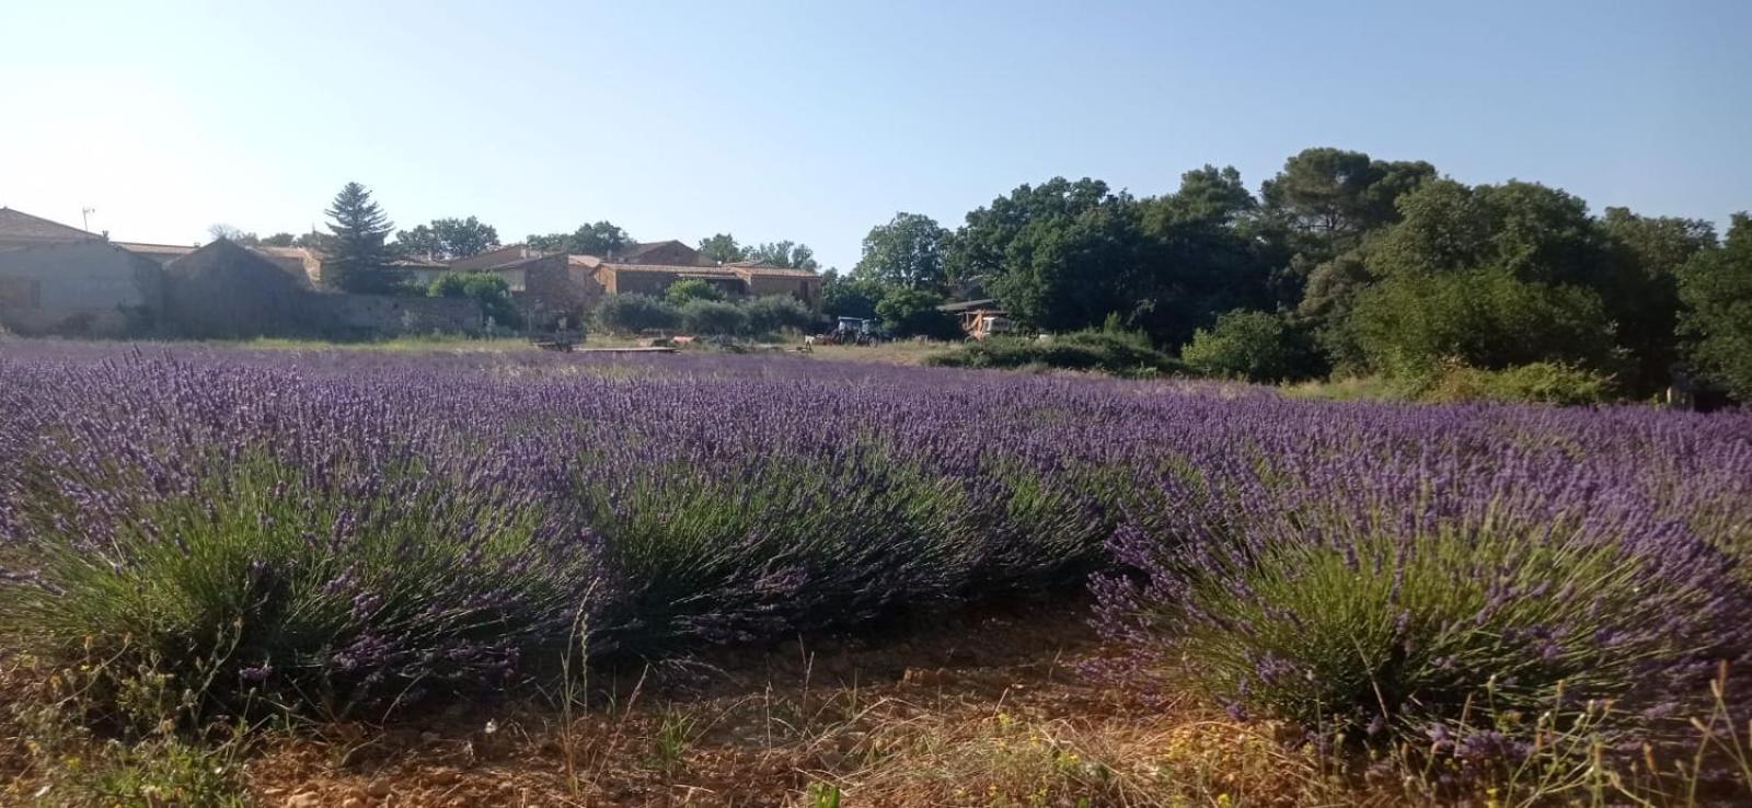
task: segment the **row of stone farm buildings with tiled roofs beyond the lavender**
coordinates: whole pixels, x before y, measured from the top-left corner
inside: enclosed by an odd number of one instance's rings
[[[610,256],[498,247],[454,261],[394,265],[427,286],[443,275],[505,279],[531,328],[576,322],[604,294],[662,294],[704,280],[731,298],[792,296],[815,312],[822,279],[760,261],[715,263],[687,244],[632,244]],[[203,247],[112,242],[0,209],[0,330],[65,337],[396,335],[487,324],[468,300],[340,294],[322,284],[322,256],[305,247]]]

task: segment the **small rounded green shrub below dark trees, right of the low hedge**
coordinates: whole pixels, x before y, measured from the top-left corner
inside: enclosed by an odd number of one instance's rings
[[[1193,331],[1181,361],[1198,373],[1247,382],[1282,382],[1309,375],[1312,351],[1284,317],[1223,312],[1216,326]]]

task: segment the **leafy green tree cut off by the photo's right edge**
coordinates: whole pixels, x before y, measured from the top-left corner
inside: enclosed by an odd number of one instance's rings
[[[1752,217],[1734,214],[1722,247],[1680,270],[1680,333],[1696,370],[1741,401],[1752,401]]]

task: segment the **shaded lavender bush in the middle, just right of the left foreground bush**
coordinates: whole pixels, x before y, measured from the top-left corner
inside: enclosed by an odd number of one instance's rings
[[[659,463],[578,486],[624,582],[592,643],[655,654],[855,624],[955,598],[976,561],[955,487],[881,452],[711,464],[736,473]]]

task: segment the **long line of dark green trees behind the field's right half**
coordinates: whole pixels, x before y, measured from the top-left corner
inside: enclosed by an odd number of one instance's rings
[[[1468,186],[1319,147],[1258,193],[1205,165],[1144,198],[1097,179],[1025,184],[955,230],[902,212],[823,296],[858,317],[995,298],[1028,330],[1118,326],[1251,380],[1549,363],[1626,396],[1675,372],[1748,396],[1748,251],[1745,216],[1722,242],[1708,221],[1593,216],[1538,182]]]

